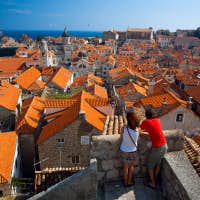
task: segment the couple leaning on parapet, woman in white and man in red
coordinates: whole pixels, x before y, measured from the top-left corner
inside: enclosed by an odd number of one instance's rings
[[[134,112],[127,112],[127,125],[120,131],[121,145],[120,154],[123,162],[123,181],[124,186],[128,187],[134,184],[134,161],[138,151],[137,142],[140,134],[147,132],[152,146],[148,156],[147,167],[150,182],[148,187],[156,187],[156,179],[160,172],[161,160],[167,152],[167,142],[162,131],[160,120],[152,109],[145,111],[146,119],[140,124],[138,116]],[[139,128],[139,129],[138,129]]]

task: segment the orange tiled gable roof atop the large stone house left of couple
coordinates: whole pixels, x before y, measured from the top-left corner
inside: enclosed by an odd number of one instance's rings
[[[82,91],[70,99],[48,100],[45,105],[49,108],[52,108],[52,106],[60,108],[66,106],[66,108],[54,114],[51,113],[51,116],[47,116],[48,119],[52,118],[53,120],[43,127],[37,140],[38,144],[41,144],[49,137],[67,127],[78,117],[80,111],[85,112],[86,121],[88,123],[99,130],[103,130],[105,115],[95,109],[94,105],[108,105],[108,100],[98,99]]]

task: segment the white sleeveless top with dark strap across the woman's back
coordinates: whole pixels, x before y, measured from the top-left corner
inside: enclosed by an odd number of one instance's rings
[[[128,128],[128,130],[129,130],[130,136],[132,137],[132,139],[135,141],[135,144],[137,145],[139,133],[135,130],[130,129],[130,128]],[[137,151],[136,146],[133,144],[133,142],[132,142],[132,140],[129,136],[128,130],[127,130],[127,127],[124,126],[124,134],[123,134],[120,150],[123,151],[123,152]]]

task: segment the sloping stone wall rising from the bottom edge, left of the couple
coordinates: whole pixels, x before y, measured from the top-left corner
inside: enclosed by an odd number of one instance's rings
[[[97,199],[97,163],[91,160],[90,166],[69,178],[57,183],[29,200],[95,200]]]

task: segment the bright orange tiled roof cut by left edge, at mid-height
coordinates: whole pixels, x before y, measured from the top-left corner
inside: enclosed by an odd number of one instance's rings
[[[21,91],[7,81],[1,81],[0,106],[15,111]]]

